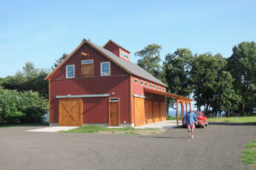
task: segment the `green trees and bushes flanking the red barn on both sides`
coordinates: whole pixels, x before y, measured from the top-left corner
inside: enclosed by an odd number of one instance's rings
[[[162,61],[161,46],[149,44],[135,53],[137,64],[168,86],[167,92],[195,100],[197,110],[207,115],[253,115],[256,107],[256,44],[241,42],[233,54],[193,54],[189,48],[177,48]],[[51,70],[37,69],[26,62],[15,76],[0,77],[0,123],[42,122],[48,111],[50,71],[67,58],[62,54]],[[175,101],[167,98],[167,108]],[[167,110],[168,111],[168,110]]]

